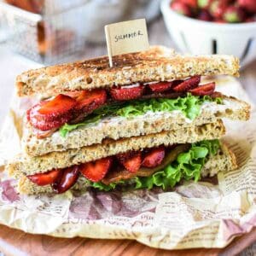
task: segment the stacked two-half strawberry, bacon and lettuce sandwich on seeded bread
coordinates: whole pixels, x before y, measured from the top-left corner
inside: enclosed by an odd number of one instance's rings
[[[229,55],[147,51],[21,73],[18,96],[41,98],[24,116],[22,153],[9,162],[22,194],[69,189],[170,189],[237,167],[222,118],[250,106],[205,76],[239,75]]]

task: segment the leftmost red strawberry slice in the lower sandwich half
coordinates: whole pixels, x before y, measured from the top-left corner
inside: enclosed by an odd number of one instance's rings
[[[28,177],[32,183],[36,183],[38,186],[45,186],[51,183],[55,183],[55,181],[60,176],[60,173],[61,169],[55,169],[49,172],[28,175],[26,177]]]

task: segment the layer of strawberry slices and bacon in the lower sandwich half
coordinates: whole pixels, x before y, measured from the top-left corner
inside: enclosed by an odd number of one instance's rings
[[[175,160],[178,154],[187,149],[189,149],[189,144],[183,144],[179,147],[173,145],[167,148],[160,146],[159,148],[144,149],[143,152],[127,152],[79,166],[71,166],[27,177],[39,186],[50,184],[54,191],[60,194],[70,189],[77,182],[80,173],[92,182],[102,182],[107,185],[136,176],[148,177]],[[139,161],[138,155],[140,156]],[[118,161],[122,163],[118,164]],[[132,167],[133,171],[137,169],[137,166],[140,167],[136,172],[131,172],[123,164],[124,162],[125,165],[129,162],[128,167]]]

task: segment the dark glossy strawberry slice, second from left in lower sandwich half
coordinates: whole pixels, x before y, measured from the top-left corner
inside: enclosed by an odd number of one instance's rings
[[[61,176],[52,183],[56,193],[61,194],[70,189],[79,178],[79,166],[72,166],[61,170]]]

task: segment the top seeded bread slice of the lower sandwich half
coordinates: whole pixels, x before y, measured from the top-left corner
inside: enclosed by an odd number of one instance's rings
[[[113,141],[106,139],[102,144],[89,147],[73,148],[63,152],[52,152],[42,156],[28,157],[18,155],[9,163],[9,176],[17,177],[20,172],[29,175],[38,172],[47,172],[55,168],[65,168],[81,163],[98,160],[110,155],[125,153],[130,150],[154,148],[159,145],[172,145],[174,143],[195,143],[202,140],[220,138],[225,128],[219,119],[212,124],[192,126],[174,131],[161,131],[141,137],[130,137]]]

